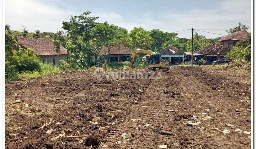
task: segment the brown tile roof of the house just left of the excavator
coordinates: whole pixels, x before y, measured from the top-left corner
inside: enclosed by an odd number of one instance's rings
[[[132,50],[130,50],[127,46],[121,45],[119,47],[119,54],[132,54]],[[108,47],[101,48],[101,54],[107,55],[108,54]],[[117,46],[110,46],[110,55],[117,55],[118,54],[118,47]]]

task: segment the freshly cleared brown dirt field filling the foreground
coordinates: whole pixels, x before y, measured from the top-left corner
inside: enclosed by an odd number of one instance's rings
[[[113,73],[135,71],[143,69]],[[6,148],[250,148],[250,72],[175,66],[161,79],[101,80],[94,72],[7,83]]]

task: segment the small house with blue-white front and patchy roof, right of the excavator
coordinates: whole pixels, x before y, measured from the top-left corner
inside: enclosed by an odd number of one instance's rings
[[[177,65],[183,62],[184,55],[186,55],[183,51],[172,45],[162,49],[159,53],[161,54],[161,58],[169,62],[171,65]]]

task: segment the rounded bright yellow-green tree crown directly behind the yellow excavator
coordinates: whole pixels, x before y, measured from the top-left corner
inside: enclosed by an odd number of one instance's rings
[[[129,33],[129,48],[149,49],[154,39],[142,27],[134,27]]]

